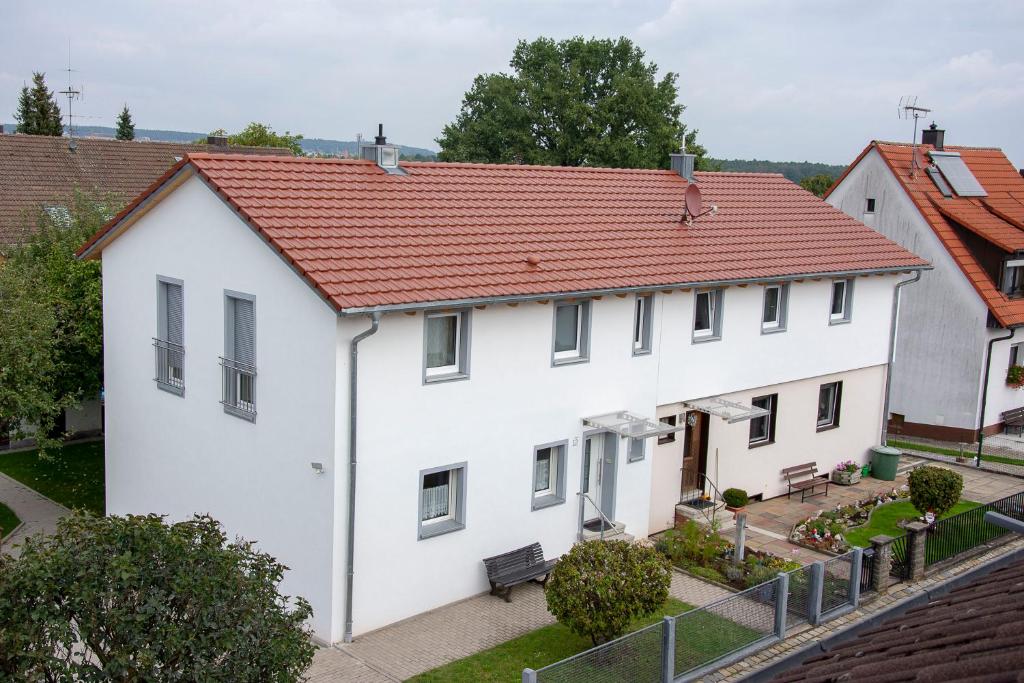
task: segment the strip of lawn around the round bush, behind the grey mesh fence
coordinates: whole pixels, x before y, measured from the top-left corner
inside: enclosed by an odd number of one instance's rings
[[[669,598],[663,609],[653,616],[638,620],[631,625],[630,631],[656,624],[665,614],[679,614],[689,609],[692,609],[690,605]],[[679,635],[681,631],[684,636],[682,638]],[[697,612],[694,617],[677,625],[676,633],[677,643],[682,643],[676,650],[677,669],[700,666],[761,637],[751,629],[706,612]],[[625,680],[623,677],[627,676],[627,672],[631,672],[629,675],[632,676],[641,671],[659,671],[660,631],[651,634],[649,639],[641,637],[641,641],[608,652],[607,661],[590,665],[581,661],[575,673],[581,674],[581,680],[586,679],[588,683],[600,683],[605,680]],[[518,681],[526,667],[540,669],[591,647],[589,639],[574,635],[561,624],[552,624],[488,650],[420,674],[410,681]],[[629,651],[630,647],[634,651]]]

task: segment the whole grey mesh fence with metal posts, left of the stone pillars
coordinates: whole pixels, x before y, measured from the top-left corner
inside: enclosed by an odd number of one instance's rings
[[[815,562],[740,593],[666,616],[616,640],[537,671],[535,683],[672,683],[705,673],[767,647],[804,624],[820,624],[856,606],[870,566],[858,548]],[[870,569],[866,571],[870,579]]]

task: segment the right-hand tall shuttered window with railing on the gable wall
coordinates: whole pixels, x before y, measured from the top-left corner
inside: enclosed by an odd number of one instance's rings
[[[224,293],[224,355],[220,359],[224,412],[256,419],[256,300]]]

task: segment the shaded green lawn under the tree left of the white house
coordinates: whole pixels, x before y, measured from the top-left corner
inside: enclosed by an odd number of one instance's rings
[[[0,472],[72,508],[103,514],[103,443],[75,443],[48,452],[0,454]]]

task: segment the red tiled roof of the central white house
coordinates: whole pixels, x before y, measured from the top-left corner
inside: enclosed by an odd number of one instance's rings
[[[672,171],[187,162],[339,310],[927,266],[781,175],[698,173],[687,226]]]

